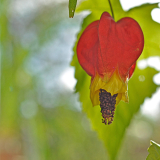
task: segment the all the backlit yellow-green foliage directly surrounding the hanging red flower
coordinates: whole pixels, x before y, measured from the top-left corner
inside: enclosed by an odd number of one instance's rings
[[[119,0],[113,0],[112,6],[115,21],[118,21],[123,17],[132,17],[140,24],[145,38],[144,51],[140,59],[160,55],[160,24],[154,22],[151,18],[151,10],[158,7],[158,4],[144,4],[142,6],[132,8],[127,12],[122,9]],[[104,11],[110,13],[109,4],[107,4],[104,0],[84,1],[77,8],[77,11],[83,10],[90,10],[91,13],[84,19],[77,39],[79,39],[86,26],[91,22],[98,20]],[[154,29],[151,30],[151,28]],[[89,98],[90,77],[78,64],[76,44],[74,47],[75,54],[72,61],[72,65],[76,68],[75,78],[78,80],[76,91],[80,94],[80,101],[83,104],[83,111],[87,113],[94,130],[98,132],[99,137],[104,141],[110,158],[114,160],[125,134],[125,130],[130,124],[131,119],[140,109],[140,105],[143,103],[144,99],[146,97],[151,97],[151,95],[156,91],[157,85],[154,84],[152,78],[157,71],[151,68],[146,68],[144,70],[136,68],[133,77],[129,81],[129,104],[121,102],[115,111],[113,124],[110,126],[105,126],[101,123],[100,107],[97,106],[92,108]],[[140,76],[143,76],[145,80],[141,81],[139,79]]]

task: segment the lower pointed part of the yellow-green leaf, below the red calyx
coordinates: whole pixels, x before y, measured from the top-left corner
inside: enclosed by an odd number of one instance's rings
[[[89,98],[90,77],[87,76],[78,66],[76,69],[79,71],[81,70],[79,74],[76,74],[78,77],[76,88],[80,94],[83,111],[91,120],[93,129],[98,132],[99,137],[105,143],[111,159],[115,159],[124,136],[125,129],[130,124],[134,114],[139,110],[145,97],[150,97],[156,90],[157,86],[153,83],[152,77],[157,73],[157,71],[152,68],[146,68],[144,70],[136,68],[135,74],[129,81],[129,104],[120,102],[117,106],[113,123],[109,126],[105,126],[101,121],[102,117],[100,107],[92,107]],[[140,77],[142,77],[144,81],[140,81]]]

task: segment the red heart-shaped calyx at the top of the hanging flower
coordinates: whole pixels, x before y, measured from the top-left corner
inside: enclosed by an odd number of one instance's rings
[[[134,72],[136,60],[144,46],[143,32],[132,18],[115,22],[104,12],[100,20],[92,22],[82,33],[77,56],[82,68],[92,76],[98,72],[109,78],[118,69],[123,81]]]

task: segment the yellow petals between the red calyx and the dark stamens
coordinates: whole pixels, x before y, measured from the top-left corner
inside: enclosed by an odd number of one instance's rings
[[[118,70],[113,73],[108,81],[105,81],[105,79],[107,79],[106,76],[104,76],[104,78],[102,79],[100,75],[96,74],[91,82],[90,98],[93,106],[100,104],[99,89],[104,89],[107,92],[110,92],[112,96],[118,93],[118,96],[116,98],[116,105],[118,105],[120,100],[128,102],[128,79],[124,83],[119,76]]]

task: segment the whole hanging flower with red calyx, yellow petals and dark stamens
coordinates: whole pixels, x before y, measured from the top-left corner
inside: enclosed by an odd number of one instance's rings
[[[120,100],[129,101],[128,80],[143,46],[143,32],[134,19],[125,17],[115,22],[107,12],[82,33],[77,57],[92,77],[90,98],[93,106],[100,105],[103,123],[112,123]]]

